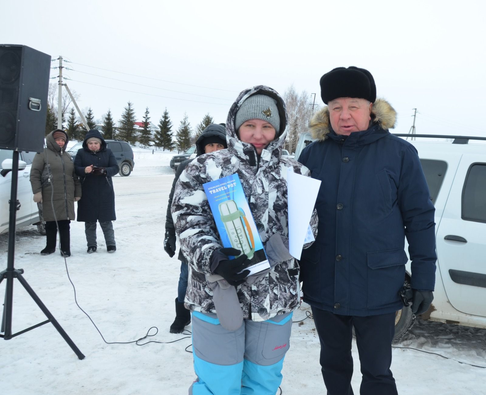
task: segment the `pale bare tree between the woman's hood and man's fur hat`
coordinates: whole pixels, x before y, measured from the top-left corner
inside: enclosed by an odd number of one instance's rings
[[[294,85],[291,85],[284,93],[283,100],[287,106],[287,139],[284,148],[290,153],[295,152],[297,141],[302,132],[307,131],[309,120],[312,116],[312,103],[305,90],[299,95]]]

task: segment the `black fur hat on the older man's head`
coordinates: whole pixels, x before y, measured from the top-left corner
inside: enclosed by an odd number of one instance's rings
[[[340,97],[356,97],[374,103],[376,85],[366,69],[349,66],[337,67],[324,74],[320,80],[321,98],[324,103]]]

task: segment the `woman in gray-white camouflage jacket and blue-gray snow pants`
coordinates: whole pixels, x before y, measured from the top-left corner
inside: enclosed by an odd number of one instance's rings
[[[228,148],[195,158],[175,187],[172,215],[189,263],[185,303],[192,310],[198,376],[190,393],[240,394],[248,388],[275,394],[281,382],[292,311],[300,303],[298,264],[288,251],[287,168],[310,175],[281,156],[286,122],[285,104],[275,90],[243,90],[226,121]],[[232,254],[222,246],[203,188],[235,173],[271,265],[248,278],[243,265],[235,264],[242,258],[228,260]],[[315,235],[315,211],[311,227]]]

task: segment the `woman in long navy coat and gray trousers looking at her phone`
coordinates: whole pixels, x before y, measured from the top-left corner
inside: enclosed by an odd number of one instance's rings
[[[111,177],[119,168],[115,155],[106,148],[106,142],[96,129],[91,129],[85,137],[83,148],[74,158],[76,174],[81,178],[83,202],[78,203],[78,221],[85,223],[87,253],[96,252],[96,222],[103,230],[106,249],[115,252],[115,192]]]

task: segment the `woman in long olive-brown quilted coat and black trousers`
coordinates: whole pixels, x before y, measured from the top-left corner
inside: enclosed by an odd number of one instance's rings
[[[74,172],[72,159],[66,153],[68,140],[64,130],[53,130],[46,137],[44,152],[35,155],[32,161],[30,182],[34,202],[44,202],[43,219],[46,222],[46,248],[41,255],[56,250],[59,227],[61,255],[71,256],[69,223],[74,220],[74,202],[81,198],[81,183]]]

